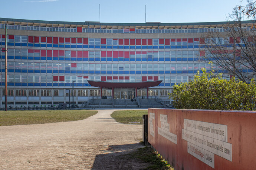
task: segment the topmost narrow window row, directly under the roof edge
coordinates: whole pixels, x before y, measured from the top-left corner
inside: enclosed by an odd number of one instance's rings
[[[0,24],[0,28],[4,29],[5,24]],[[116,26],[115,26],[116,27]],[[249,30],[250,27],[244,27]],[[29,25],[17,25],[17,24],[7,24],[7,29],[12,30],[33,30],[33,31],[53,31],[53,32],[83,32],[83,33],[206,33],[206,32],[225,32],[226,28],[223,27],[204,27],[204,28],[154,28],[146,27],[141,28],[89,28],[89,27],[51,27],[51,26],[29,26]]]

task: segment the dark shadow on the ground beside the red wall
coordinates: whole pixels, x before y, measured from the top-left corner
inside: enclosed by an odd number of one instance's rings
[[[110,145],[105,152],[106,154],[98,154],[95,157],[93,170],[113,170],[113,169],[144,169],[149,164],[141,160],[128,156],[131,152],[136,152],[140,147],[144,147],[141,143],[133,143],[127,145]]]

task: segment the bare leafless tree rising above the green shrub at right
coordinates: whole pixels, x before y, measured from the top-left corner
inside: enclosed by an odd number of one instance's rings
[[[249,21],[244,21],[244,9],[235,7],[223,31],[205,34],[200,48],[204,51],[201,56],[221,67],[227,76],[247,81],[256,74],[256,29],[255,8],[248,12]]]

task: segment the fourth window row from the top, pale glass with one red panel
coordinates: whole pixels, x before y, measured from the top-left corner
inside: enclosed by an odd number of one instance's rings
[[[4,69],[5,63],[0,62]],[[213,69],[221,69],[213,64]],[[8,69],[36,69],[36,70],[86,70],[86,71],[173,71],[173,70],[201,70],[210,69],[205,62],[175,63],[175,64],[93,64],[93,63],[49,63],[49,62],[8,62]],[[237,64],[237,68],[246,66]]]

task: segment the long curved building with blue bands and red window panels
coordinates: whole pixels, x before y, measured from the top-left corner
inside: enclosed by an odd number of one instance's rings
[[[225,23],[128,24],[0,18],[0,45],[4,48],[7,38],[8,49],[7,104],[19,107],[68,103],[72,85],[78,105],[100,96],[131,99],[137,95],[170,102],[168,93],[175,83],[193,79],[201,68],[210,69],[200,52],[204,42],[200,37],[207,31],[224,31]],[[4,51],[0,55],[4,89]],[[221,72],[221,68],[216,69]],[[113,91],[104,85],[91,86],[88,81],[161,83],[147,92],[147,86],[123,86]],[[0,107],[4,107],[3,90]]]

